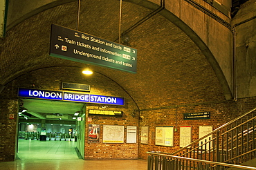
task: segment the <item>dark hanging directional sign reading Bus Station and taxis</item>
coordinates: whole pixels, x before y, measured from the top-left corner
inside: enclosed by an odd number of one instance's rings
[[[137,50],[77,30],[52,25],[50,56],[137,72]]]

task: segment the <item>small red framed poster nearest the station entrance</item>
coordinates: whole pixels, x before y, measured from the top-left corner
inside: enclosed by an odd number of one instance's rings
[[[89,124],[88,143],[100,143],[100,124]]]

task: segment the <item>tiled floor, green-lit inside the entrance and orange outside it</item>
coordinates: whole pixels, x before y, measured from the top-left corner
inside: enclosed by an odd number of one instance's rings
[[[19,140],[19,160],[0,162],[1,170],[146,170],[146,160],[82,160],[72,141]]]

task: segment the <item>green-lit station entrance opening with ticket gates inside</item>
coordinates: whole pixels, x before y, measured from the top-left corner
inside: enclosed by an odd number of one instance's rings
[[[17,158],[84,158],[85,103],[19,99]]]

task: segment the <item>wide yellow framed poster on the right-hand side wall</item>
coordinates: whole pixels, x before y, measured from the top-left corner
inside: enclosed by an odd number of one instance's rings
[[[156,127],[156,145],[174,146],[174,126]]]

